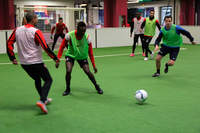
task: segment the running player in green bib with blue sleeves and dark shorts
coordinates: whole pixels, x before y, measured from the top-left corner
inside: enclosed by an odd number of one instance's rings
[[[160,51],[158,52],[158,55],[156,57],[157,71],[152,75],[152,77],[160,76],[161,60],[165,55],[169,54],[170,60],[165,64],[164,72],[168,73],[168,67],[174,65],[180,50],[180,46],[183,43],[180,34],[185,35],[187,38],[190,39],[192,44],[195,44],[194,38],[188,31],[178,25],[172,24],[172,16],[165,16],[164,21],[165,26],[160,30],[160,34],[155,41],[156,48],[159,47],[161,39],[163,41],[163,44],[161,45]]]

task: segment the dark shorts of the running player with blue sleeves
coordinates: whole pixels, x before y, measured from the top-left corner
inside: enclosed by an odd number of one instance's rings
[[[172,48],[172,47],[167,47],[165,45],[161,45],[161,48],[158,54],[164,57],[166,54],[169,53],[170,60],[175,61],[178,56],[179,50],[180,50],[180,47]]]

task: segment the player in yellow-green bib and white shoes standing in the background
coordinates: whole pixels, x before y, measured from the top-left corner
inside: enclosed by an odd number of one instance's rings
[[[148,53],[151,54],[151,58],[153,59],[154,53],[149,49],[149,44],[155,35],[156,26],[159,30],[161,29],[158,20],[154,17],[154,13],[154,10],[151,10],[150,16],[146,18],[141,25],[141,30],[144,28],[143,45],[145,48],[145,61],[148,60]]]

